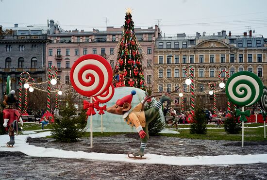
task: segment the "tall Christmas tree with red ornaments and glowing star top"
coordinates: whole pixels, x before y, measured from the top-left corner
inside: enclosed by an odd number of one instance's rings
[[[117,63],[114,69],[116,86],[131,86],[146,89],[142,70],[142,60],[138,51],[134,33],[134,21],[131,12],[125,16],[123,37],[119,44]]]

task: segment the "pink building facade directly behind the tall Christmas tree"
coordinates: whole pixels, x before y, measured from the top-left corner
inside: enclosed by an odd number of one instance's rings
[[[157,25],[148,29],[136,28],[135,35],[143,50],[144,76],[147,84],[152,80],[152,65],[154,62],[155,40],[160,30]],[[69,72],[73,63],[85,54],[98,54],[106,58],[114,67],[117,62],[116,46],[122,37],[123,27],[107,27],[106,31],[93,29],[92,32],[81,30],[66,31],[51,34],[51,42],[46,48],[46,66],[58,68],[58,78],[61,82],[69,83]],[[145,54],[144,54],[145,53]]]

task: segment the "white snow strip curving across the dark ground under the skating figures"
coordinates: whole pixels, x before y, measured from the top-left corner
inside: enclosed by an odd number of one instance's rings
[[[25,131],[26,133],[27,131]],[[164,156],[156,154],[146,154],[146,160],[129,159],[125,154],[106,154],[83,151],[67,151],[56,148],[35,147],[29,145],[28,137],[40,138],[50,135],[50,131],[40,132],[36,134],[15,136],[15,147],[6,147],[9,141],[8,135],[0,136],[0,151],[19,151],[33,157],[52,157],[66,159],[88,159],[99,161],[114,161],[139,164],[169,164],[169,165],[222,165],[222,164],[255,164],[267,163],[267,154],[248,154],[248,155],[220,155],[220,156]]]

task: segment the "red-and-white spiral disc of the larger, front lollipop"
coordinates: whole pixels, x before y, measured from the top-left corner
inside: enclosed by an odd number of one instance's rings
[[[112,82],[112,68],[106,59],[96,54],[80,57],[70,70],[70,82],[81,95],[95,97],[104,93]]]

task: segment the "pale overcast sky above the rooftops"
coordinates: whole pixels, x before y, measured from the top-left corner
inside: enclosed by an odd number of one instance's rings
[[[53,19],[64,30],[106,30],[106,19],[108,26],[124,24],[127,7],[135,27],[159,24],[167,36],[243,34],[250,26],[267,37],[267,0],[1,0],[0,25],[39,26]]]

